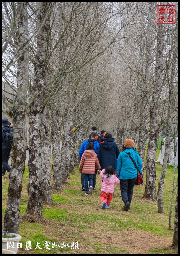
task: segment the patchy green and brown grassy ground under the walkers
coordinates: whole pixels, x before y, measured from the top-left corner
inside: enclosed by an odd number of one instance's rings
[[[159,151],[157,151],[156,159]],[[157,163],[157,181],[161,165]],[[101,180],[97,174],[96,192],[85,196],[81,189],[81,176],[70,175],[69,185],[63,192],[53,194],[54,206],[43,206],[44,219],[26,222],[21,218],[19,234],[22,236],[22,249],[19,254],[177,254],[171,248],[173,230],[168,230],[168,218],[173,184],[173,166],[167,166],[164,182],[164,214],[157,213],[157,202],[142,198],[144,186],[135,186],[130,211],[123,211],[120,189],[115,185],[111,206],[101,210]],[[144,176],[145,179],[145,176]],[[177,180],[177,169],[176,169]],[[3,214],[7,202],[8,175],[3,179]],[[21,217],[27,207],[28,168],[23,177]],[[175,192],[176,194],[176,192]],[[172,226],[174,225],[173,202]],[[30,240],[32,250],[25,250]],[[50,243],[48,249],[43,245]],[[78,241],[79,249],[71,249],[71,243]],[[42,249],[35,249],[37,242]],[[57,247],[52,248],[53,244]],[[62,247],[62,243],[66,247]],[[67,245],[68,244],[68,245]],[[69,247],[68,247],[69,246]]]

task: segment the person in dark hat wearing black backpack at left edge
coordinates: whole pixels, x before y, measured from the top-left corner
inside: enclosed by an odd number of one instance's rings
[[[6,133],[11,134],[9,141],[6,138]],[[7,118],[2,119],[2,177],[6,171],[10,173],[10,166],[8,165],[10,150],[13,145],[13,124]]]

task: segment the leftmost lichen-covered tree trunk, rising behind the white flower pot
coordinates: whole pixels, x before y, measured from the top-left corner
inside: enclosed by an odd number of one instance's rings
[[[18,52],[22,57],[18,60],[17,89],[13,105],[13,147],[10,152],[12,157],[11,173],[9,177],[8,200],[4,214],[4,230],[19,233],[19,204],[22,190],[22,179],[26,159],[26,134],[25,134],[25,106],[28,88],[28,14],[27,3],[17,2],[17,8],[22,8],[18,23]]]

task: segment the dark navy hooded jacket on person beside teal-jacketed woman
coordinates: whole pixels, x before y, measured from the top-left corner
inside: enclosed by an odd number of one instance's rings
[[[109,165],[113,166],[114,170],[116,170],[119,153],[119,148],[114,142],[114,138],[103,139],[103,142],[99,145],[97,153],[101,170],[107,168]]]

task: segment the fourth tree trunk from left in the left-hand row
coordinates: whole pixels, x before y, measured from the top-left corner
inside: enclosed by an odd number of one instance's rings
[[[52,135],[52,190],[62,191],[62,170],[61,170],[61,114],[57,110],[54,114],[51,110],[51,135]]]

